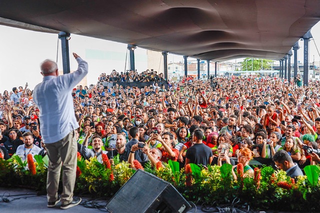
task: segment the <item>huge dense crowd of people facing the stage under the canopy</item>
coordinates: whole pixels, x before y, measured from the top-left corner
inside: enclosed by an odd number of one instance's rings
[[[168,88],[153,83],[161,80],[162,74],[148,70],[140,74],[114,70],[110,75],[102,73],[89,88],[74,88],[78,152],[100,162],[102,153],[109,159],[118,155],[132,167],[133,160],[142,166],[172,160],[181,167],[227,163],[235,168],[239,162],[248,176],[253,175],[252,160],[283,169],[292,177],[302,175],[304,166],[320,162],[318,83],[303,86],[301,81],[255,75],[184,77]],[[101,83],[132,81],[150,85],[108,88]],[[4,159],[13,154],[22,159],[28,153],[46,154],[38,116],[27,85],[3,92],[0,152]]]

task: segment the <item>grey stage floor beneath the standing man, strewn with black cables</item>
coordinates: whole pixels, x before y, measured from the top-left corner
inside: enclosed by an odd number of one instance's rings
[[[8,200],[5,203],[4,200]],[[27,189],[11,189],[11,188],[0,188],[0,213],[26,213],[26,212],[41,212],[41,213],[52,213],[61,212],[63,213],[96,213],[100,212],[97,209],[90,209],[84,207],[84,201],[88,201],[91,198],[81,197],[82,202],[76,207],[72,207],[68,210],[60,210],[60,203],[55,208],[47,208],[46,196],[37,196],[32,190]],[[105,205],[105,201],[98,201],[100,205]],[[102,210],[102,209],[101,209]],[[104,209],[105,211],[105,209]],[[189,210],[187,213],[194,213],[195,208]],[[200,207],[197,206],[197,213],[203,213]],[[132,212],[133,213],[133,212]]]

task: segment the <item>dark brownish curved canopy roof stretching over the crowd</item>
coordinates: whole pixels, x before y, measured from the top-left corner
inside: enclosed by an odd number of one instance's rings
[[[319,20],[319,0],[0,2],[3,25],[65,31],[214,61],[282,58]]]

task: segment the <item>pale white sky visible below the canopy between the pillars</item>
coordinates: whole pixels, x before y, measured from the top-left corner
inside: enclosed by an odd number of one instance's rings
[[[11,91],[12,87],[23,86],[28,83],[28,88],[33,89],[42,81],[39,65],[45,59],[56,61],[62,70],[61,44],[57,34],[35,32],[0,25],[0,93],[4,90]],[[314,42],[320,51],[320,22],[311,28]],[[298,60],[303,62],[303,41],[299,41]],[[127,44],[90,38],[71,34],[69,40],[70,70],[77,68],[77,63],[72,57],[72,52],[88,62],[89,74],[87,84],[95,84],[97,77],[102,72],[109,74],[112,69],[124,71],[128,69],[129,57]],[[127,55],[126,55],[127,54]],[[135,68],[138,72],[147,68],[146,50],[135,49]],[[309,62],[320,61],[313,40],[309,42]],[[188,60],[195,60],[188,58]],[[236,59],[237,62],[243,59]],[[168,54],[168,62],[183,61],[182,56]],[[235,62],[235,60],[230,60]],[[291,58],[293,62],[293,57]]]

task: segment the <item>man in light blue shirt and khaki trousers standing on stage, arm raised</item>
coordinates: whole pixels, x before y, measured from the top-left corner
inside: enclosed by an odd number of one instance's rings
[[[73,198],[77,153],[75,129],[79,125],[71,92],[88,73],[88,65],[77,54],[73,53],[73,56],[78,62],[77,70],[60,76],[54,61],[43,61],[40,65],[43,81],[33,91],[33,101],[40,111],[42,140],[49,157],[46,182],[49,208],[60,201],[60,209],[69,209],[81,202],[81,198]],[[60,198],[57,191],[61,166],[63,191]]]

